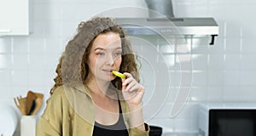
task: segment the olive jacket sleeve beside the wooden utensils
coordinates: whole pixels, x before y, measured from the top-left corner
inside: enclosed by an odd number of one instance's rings
[[[61,90],[47,99],[47,105],[42,116],[39,117],[37,125],[37,136],[60,136],[62,130],[62,96]]]

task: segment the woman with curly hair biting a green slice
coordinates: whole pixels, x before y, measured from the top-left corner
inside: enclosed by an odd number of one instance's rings
[[[56,73],[51,97],[38,121],[38,136],[148,135],[141,105],[144,88],[135,56],[113,19],[80,23]]]

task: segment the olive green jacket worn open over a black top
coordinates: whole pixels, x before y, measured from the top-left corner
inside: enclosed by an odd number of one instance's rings
[[[47,100],[44,114],[37,125],[37,136],[92,136],[95,107],[84,85],[61,86]],[[125,125],[130,136],[148,136],[147,131],[129,127],[129,109],[121,100]],[[125,114],[126,113],[126,114]]]

